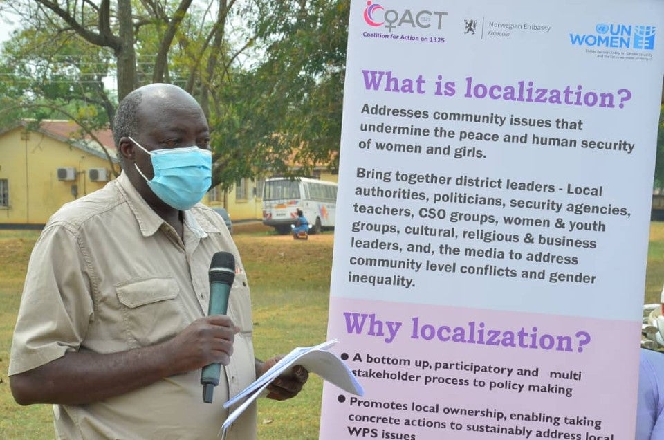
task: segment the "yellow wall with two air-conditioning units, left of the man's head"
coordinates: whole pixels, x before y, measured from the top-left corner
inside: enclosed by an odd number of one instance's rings
[[[59,181],[58,167],[74,167],[75,181]],[[0,207],[0,224],[44,224],[60,206],[75,197],[72,186],[77,185],[77,197],[104,186],[106,182],[91,182],[90,168],[105,168],[110,178],[110,165],[105,159],[93,156],[37,131],[24,127],[0,135],[0,179],[8,179],[9,208]]]

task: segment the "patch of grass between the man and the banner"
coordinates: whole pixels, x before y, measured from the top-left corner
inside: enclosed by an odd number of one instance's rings
[[[252,291],[258,358],[325,340],[332,237],[295,241],[272,234],[235,235]],[[295,399],[261,399],[259,439],[317,439],[321,397],[322,380],[311,375]]]

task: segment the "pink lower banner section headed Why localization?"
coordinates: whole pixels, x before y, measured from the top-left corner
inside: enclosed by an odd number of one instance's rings
[[[638,322],[333,297],[321,439],[634,438]],[[622,347],[620,351],[614,347]],[[633,350],[624,347],[634,347]],[[629,377],[629,379],[626,379]]]

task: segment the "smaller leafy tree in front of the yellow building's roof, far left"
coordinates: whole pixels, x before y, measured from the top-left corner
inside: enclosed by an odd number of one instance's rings
[[[114,109],[102,82],[110,62],[106,52],[75,34],[16,33],[5,45],[0,64],[0,123],[63,116],[73,120],[82,127],[80,138],[87,136],[102,146],[117,176],[118,167],[95,136],[108,127],[107,112]]]

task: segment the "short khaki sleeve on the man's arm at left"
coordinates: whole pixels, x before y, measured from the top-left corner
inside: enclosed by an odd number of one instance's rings
[[[75,230],[62,223],[50,224],[30,255],[9,374],[77,351],[93,313],[89,275]]]

